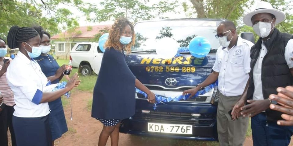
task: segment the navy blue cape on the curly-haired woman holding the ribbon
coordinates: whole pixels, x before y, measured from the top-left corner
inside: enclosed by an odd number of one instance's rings
[[[93,91],[92,117],[125,119],[135,113],[135,76],[123,52],[105,49]]]

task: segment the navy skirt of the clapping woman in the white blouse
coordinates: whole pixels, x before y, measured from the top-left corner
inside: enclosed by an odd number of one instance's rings
[[[37,118],[12,117],[17,146],[51,146],[49,116]]]

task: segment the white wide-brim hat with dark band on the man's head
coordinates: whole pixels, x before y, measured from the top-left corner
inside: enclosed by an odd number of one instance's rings
[[[278,23],[284,21],[285,18],[286,18],[286,15],[282,11],[277,10],[277,9],[273,9],[273,6],[269,2],[261,1],[261,2],[257,3],[254,11],[246,14],[243,17],[243,23],[248,25],[248,26],[252,26],[253,24],[251,22],[251,18],[253,16],[255,16],[256,14],[259,14],[259,13],[273,14],[276,17],[276,23],[275,24],[278,24]]]

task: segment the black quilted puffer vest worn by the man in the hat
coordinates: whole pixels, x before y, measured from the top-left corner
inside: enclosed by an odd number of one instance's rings
[[[262,60],[262,94],[263,98],[269,98],[271,94],[277,94],[278,87],[286,87],[293,85],[293,77],[285,60],[285,47],[292,35],[281,33],[275,28],[269,40],[266,40],[265,46],[268,50]],[[251,63],[250,63],[250,83],[247,91],[248,100],[252,99],[254,92],[253,68],[259,57],[260,49],[262,49],[262,38],[251,47]],[[270,121],[281,120],[281,112],[266,109],[267,119]]]

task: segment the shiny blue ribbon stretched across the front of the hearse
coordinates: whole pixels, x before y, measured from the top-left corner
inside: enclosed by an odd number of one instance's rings
[[[189,98],[190,94],[186,94],[184,96],[180,95],[180,96],[176,96],[176,97],[165,97],[165,96],[161,96],[161,95],[155,95],[156,98],[156,102],[154,103],[154,110],[157,109],[157,106],[159,103],[168,103],[170,101],[180,101],[180,100],[187,100],[187,99],[193,99],[198,97],[199,95],[203,95],[206,92],[209,92],[211,89],[215,88],[216,86],[218,86],[218,81],[216,81],[215,83],[208,85],[207,87],[205,87],[203,90],[197,91],[197,93]],[[142,94],[145,98],[147,98],[147,93],[137,89],[136,89],[136,93]]]

